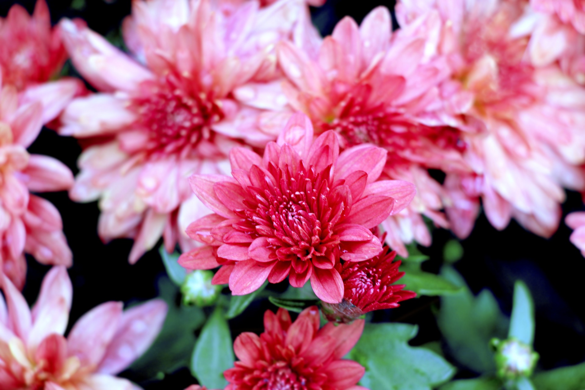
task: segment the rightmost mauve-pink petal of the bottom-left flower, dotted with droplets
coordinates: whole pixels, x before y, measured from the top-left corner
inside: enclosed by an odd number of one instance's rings
[[[142,303],[122,313],[118,332],[99,363],[98,372],[118,374],[142,356],[159,335],[167,315],[167,304],[160,299]]]

